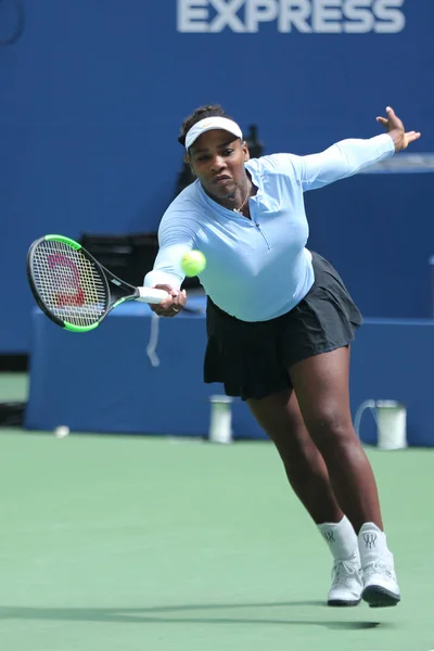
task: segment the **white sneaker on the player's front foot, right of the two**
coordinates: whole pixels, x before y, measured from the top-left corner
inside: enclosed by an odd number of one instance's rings
[[[394,569],[392,553],[363,567],[362,599],[371,608],[396,605],[400,601],[400,591]]]

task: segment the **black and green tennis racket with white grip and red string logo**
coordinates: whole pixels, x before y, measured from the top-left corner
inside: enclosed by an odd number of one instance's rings
[[[63,235],[46,235],[30,245],[27,278],[41,310],[72,332],[98,328],[112,309],[126,301],[157,304],[168,297],[164,290],[133,288],[124,282],[81,244]]]

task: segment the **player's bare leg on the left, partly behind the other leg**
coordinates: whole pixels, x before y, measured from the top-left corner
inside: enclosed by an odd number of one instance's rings
[[[288,478],[317,524],[340,522],[343,513],[330,486],[326,463],[312,443],[294,393],[282,391],[247,400],[253,416],[275,443]]]

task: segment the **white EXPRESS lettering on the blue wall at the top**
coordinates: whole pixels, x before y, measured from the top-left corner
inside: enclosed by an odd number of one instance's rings
[[[265,23],[275,23],[283,34],[397,34],[406,26],[404,3],[405,0],[177,0],[177,29],[256,34]]]

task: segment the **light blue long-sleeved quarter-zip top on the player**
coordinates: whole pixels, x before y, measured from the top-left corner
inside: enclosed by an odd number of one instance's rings
[[[243,321],[280,317],[314,283],[304,192],[353,176],[394,152],[384,133],[342,140],[319,154],[253,158],[245,164],[258,189],[250,199],[251,219],[213,201],[196,180],[164,214],[158,255],[144,284],[179,289],[184,278],[180,259],[196,248],[207,263],[201,283],[218,307]]]

